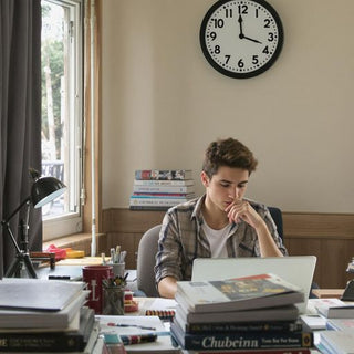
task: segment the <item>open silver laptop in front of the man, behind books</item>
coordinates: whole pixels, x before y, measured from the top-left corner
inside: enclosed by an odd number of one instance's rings
[[[303,290],[305,301],[296,306],[300,313],[305,313],[315,266],[315,256],[197,258],[192,263],[191,280],[220,280],[273,273]]]

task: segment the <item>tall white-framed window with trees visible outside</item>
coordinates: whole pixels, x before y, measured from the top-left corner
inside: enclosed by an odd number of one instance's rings
[[[42,176],[67,191],[42,208],[43,238],[82,230],[83,0],[42,0]]]

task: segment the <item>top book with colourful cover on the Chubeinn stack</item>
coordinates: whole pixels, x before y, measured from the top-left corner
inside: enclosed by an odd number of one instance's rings
[[[304,301],[299,287],[271,273],[214,281],[179,281],[175,298],[190,312],[253,310]]]

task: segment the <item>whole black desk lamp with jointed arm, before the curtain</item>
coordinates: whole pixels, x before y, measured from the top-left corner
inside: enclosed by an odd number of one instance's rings
[[[31,262],[29,249],[28,249],[28,232],[29,232],[29,218],[30,218],[30,207],[31,204],[34,208],[41,208],[44,205],[51,202],[59,196],[61,196],[65,190],[66,186],[54,177],[40,177],[40,174],[35,169],[30,169],[30,175],[34,183],[31,188],[31,194],[28,196],[15,209],[14,211],[4,220],[1,221],[1,226],[10,235],[12,243],[15,248],[15,258],[12,261],[9,270],[4,277],[19,275],[22,266],[24,264],[30,277],[37,278],[33,264]],[[20,233],[21,233],[21,248],[14,239],[13,232],[10,228],[10,220],[21,210],[25,205],[25,219],[20,220]]]

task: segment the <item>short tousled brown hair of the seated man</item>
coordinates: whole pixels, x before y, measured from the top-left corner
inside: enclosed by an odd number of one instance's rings
[[[257,159],[247,146],[229,137],[209,144],[205,154],[202,170],[209,178],[218,173],[220,166],[246,169],[251,175],[256,170],[257,164]]]

